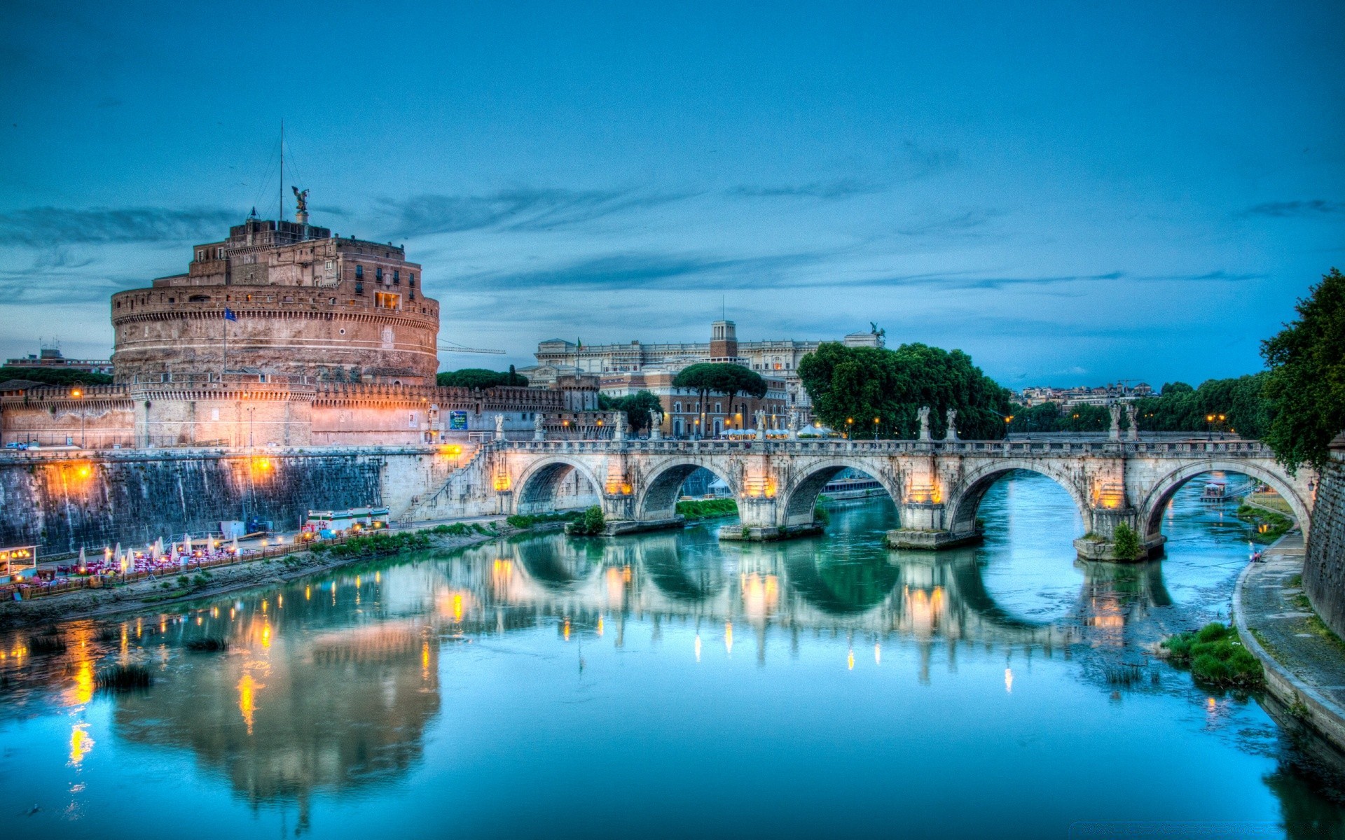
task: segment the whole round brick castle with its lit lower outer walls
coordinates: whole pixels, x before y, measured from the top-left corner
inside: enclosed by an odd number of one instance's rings
[[[296,195],[297,191],[296,191]],[[0,383],[0,442],[87,449],[412,445],[601,426],[597,379],[452,388],[438,301],[391,243],[253,214],[187,273],[113,294],[113,384]]]

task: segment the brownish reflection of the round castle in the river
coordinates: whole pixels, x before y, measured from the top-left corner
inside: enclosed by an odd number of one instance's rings
[[[438,640],[420,620],[351,624],[378,583],[339,589],[203,612],[199,630],[230,637],[230,653],[118,698],[118,734],[191,750],[254,805],[297,801],[301,827],[315,793],[405,775],[440,710]]]

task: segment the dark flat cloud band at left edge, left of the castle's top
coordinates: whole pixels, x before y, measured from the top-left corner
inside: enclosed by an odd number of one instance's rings
[[[56,247],[73,243],[211,239],[237,212],[218,208],[30,207],[0,214],[0,245]]]

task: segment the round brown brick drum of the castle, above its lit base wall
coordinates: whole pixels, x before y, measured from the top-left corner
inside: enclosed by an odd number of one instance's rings
[[[434,384],[438,301],[404,249],[332,237],[300,212],[249,218],[194,251],[186,274],[112,297],[118,383]]]

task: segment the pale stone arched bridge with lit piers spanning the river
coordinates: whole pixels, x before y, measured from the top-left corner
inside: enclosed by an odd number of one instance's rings
[[[1225,470],[1272,487],[1306,531],[1315,473],[1290,476],[1259,441],[504,441],[486,444],[413,519],[443,515],[449,500],[495,513],[577,507],[562,496],[576,476],[592,487],[608,532],[674,527],[682,482],[705,468],[738,504],[741,526],[721,539],[771,540],[820,530],[822,488],[851,468],[876,478],[897,504],[897,548],[943,548],[981,538],[976,507],[1003,474],[1025,469],[1060,484],[1079,507],[1084,559],[1111,558],[1124,523],[1150,552],[1161,548],[1162,513],[1173,493],[1202,473]],[[436,507],[440,509],[436,511]]]

